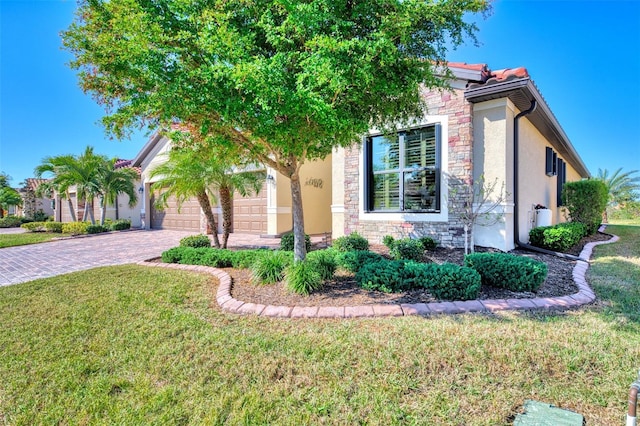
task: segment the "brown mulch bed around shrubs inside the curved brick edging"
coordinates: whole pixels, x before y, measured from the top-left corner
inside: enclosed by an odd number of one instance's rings
[[[568,251],[569,254],[579,255],[583,246],[592,241],[607,241],[611,236],[595,234],[584,238],[579,244]],[[372,245],[372,251],[388,254],[383,245]],[[478,248],[477,251],[493,251],[492,249]],[[576,293],[578,288],[573,282],[572,271],[575,261],[563,259],[554,255],[531,252],[517,249],[514,254],[527,256],[545,262],[549,273],[547,279],[537,292],[513,292],[500,288],[483,286],[480,290],[479,300],[484,299],[524,299],[534,297],[556,297]],[[464,252],[458,249],[437,248],[433,252],[427,252],[428,261],[435,263],[450,262],[463,264]],[[260,303],[264,305],[284,306],[358,306],[384,303],[429,303],[439,302],[425,290],[416,290],[406,293],[386,294],[363,290],[357,286],[353,276],[338,272],[333,280],[325,282],[324,287],[309,296],[300,296],[286,290],[283,283],[273,285],[255,285],[251,282],[251,272],[246,269],[225,269],[233,280],[231,294],[234,298],[243,302]]]

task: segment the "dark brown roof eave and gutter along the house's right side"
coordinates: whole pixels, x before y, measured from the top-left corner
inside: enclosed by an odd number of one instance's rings
[[[533,123],[540,133],[551,140],[558,152],[570,162],[580,176],[585,178],[591,176],[569,137],[562,129],[555,115],[553,115],[553,112],[551,112],[551,108],[549,108],[544,97],[542,97],[542,94],[540,94],[540,91],[530,78],[519,78],[491,85],[482,85],[465,91],[465,98],[471,103],[504,97],[508,97],[520,111],[528,109],[531,105],[531,100],[535,99],[538,107],[530,115],[529,121]]]

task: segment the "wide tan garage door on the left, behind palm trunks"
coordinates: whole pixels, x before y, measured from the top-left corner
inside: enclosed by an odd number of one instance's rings
[[[170,197],[168,205],[160,210],[155,207],[157,193],[151,196],[151,228],[174,229],[180,231],[200,232],[200,205],[195,199],[182,203],[178,211],[178,202]]]

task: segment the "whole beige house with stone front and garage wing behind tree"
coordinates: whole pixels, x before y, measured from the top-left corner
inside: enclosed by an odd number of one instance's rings
[[[451,90],[425,90],[428,110],[420,120],[392,135],[371,130],[362,143],[303,166],[308,234],[357,231],[371,242],[387,234],[429,235],[462,247],[460,188],[481,176],[504,185],[506,202],[495,210],[499,221],[475,228],[477,245],[508,251],[526,243],[536,205],[548,207],[546,220],[565,220],[562,186],[590,175],[528,71],[448,67]],[[180,211],[175,200],[163,211],[154,206],[149,171],[170,149],[171,141],[156,134],[132,162],[141,170],[143,226],[205,232],[195,200]],[[267,179],[259,194],[234,197],[233,232],[280,235],[292,228],[288,179],[270,168],[262,172]]]

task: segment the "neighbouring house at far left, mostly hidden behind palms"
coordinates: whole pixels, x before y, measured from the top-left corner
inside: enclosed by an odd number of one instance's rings
[[[114,168],[118,169],[121,167],[132,167],[135,169],[138,174],[140,174],[140,168],[136,168],[132,166],[133,160],[122,160],[118,159],[114,165]],[[140,211],[143,207],[143,188],[138,180],[134,183],[134,186],[138,188],[138,202],[134,207],[129,207],[129,196],[126,194],[118,195],[118,202],[116,205],[108,205],[106,209],[105,218],[107,219],[128,219],[131,221],[132,228],[141,227],[141,219],[140,219]],[[78,200],[78,196],[76,193],[75,186],[71,186],[69,188],[69,198],[71,199],[71,203],[73,205],[73,209],[76,214],[76,219],[81,221],[84,214],[85,202],[83,200]],[[101,215],[101,200],[94,199],[90,200],[93,207],[93,216],[96,220],[96,223],[100,221]],[[61,194],[56,194],[55,197],[55,220],[58,222],[71,222],[71,213],[69,212],[68,201],[66,198],[63,198]],[[86,218],[89,220],[89,218]]]

